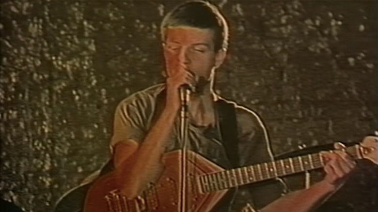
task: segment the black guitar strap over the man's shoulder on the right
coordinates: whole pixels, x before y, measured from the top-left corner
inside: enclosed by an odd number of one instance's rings
[[[222,141],[228,160],[233,168],[239,167],[235,104],[220,99],[216,102],[216,106],[221,127]]]

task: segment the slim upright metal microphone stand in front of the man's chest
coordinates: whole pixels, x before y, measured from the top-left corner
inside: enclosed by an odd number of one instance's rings
[[[181,158],[179,163],[180,170],[180,193],[178,198],[178,212],[186,212],[187,204],[187,148],[188,148],[188,103],[190,97],[190,89],[188,86],[180,87],[180,133],[181,141]]]

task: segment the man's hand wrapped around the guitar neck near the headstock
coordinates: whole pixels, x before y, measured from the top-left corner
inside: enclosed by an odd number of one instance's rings
[[[344,183],[349,174],[356,167],[356,162],[343,150],[345,146],[341,143],[335,143],[335,151],[321,152],[326,163],[324,170],[327,173],[323,180],[326,185],[331,185],[333,189]]]

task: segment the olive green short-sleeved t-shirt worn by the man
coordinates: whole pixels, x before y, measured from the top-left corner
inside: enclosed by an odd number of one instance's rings
[[[158,84],[138,91],[119,103],[116,108],[113,123],[113,135],[110,142],[110,151],[113,152],[118,142],[134,140],[143,142],[154,122],[157,112],[157,97],[165,89],[164,84]],[[215,96],[215,101],[219,96]],[[268,134],[259,116],[252,110],[239,106],[236,103],[237,142],[239,164],[241,167],[264,163],[273,159],[268,143]],[[215,117],[218,117],[215,111]],[[219,121],[216,118],[215,126],[196,126],[189,121],[188,149],[201,154],[218,166],[229,169],[231,163],[227,158],[223,146]],[[166,152],[180,149],[178,139],[179,124],[175,122],[170,139],[167,141]],[[255,208],[261,208],[280,196],[280,186],[271,183],[264,186],[244,186],[238,189],[233,203],[230,202],[229,211],[239,211],[237,205],[250,203]],[[240,203],[240,202],[241,203]],[[236,202],[239,202],[236,204]]]

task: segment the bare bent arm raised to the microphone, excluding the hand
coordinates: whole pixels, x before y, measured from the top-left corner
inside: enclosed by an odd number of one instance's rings
[[[155,125],[139,144],[134,140],[118,142],[114,152],[114,167],[123,195],[138,196],[151,182],[161,166],[160,158],[171,133],[176,110],[166,106]]]

